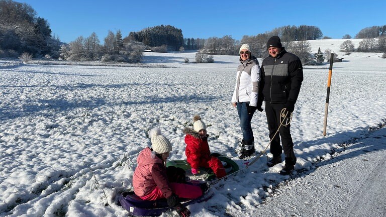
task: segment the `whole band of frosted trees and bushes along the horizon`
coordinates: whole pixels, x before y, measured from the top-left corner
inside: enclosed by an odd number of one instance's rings
[[[254,56],[264,57],[267,52],[265,43],[273,35],[279,36],[288,49],[294,50],[302,50],[305,44],[300,43],[302,41],[329,39],[328,36],[323,37],[318,27],[306,25],[278,27],[255,36],[243,36],[240,41],[230,35],[208,39],[183,38],[181,29],[160,25],[130,32],[125,38],[120,30],[116,33],[109,31],[103,45],[95,33],[89,37],[79,36],[64,44],[58,36],[52,35],[48,21],[36,15],[28,4],[0,0],[0,57],[19,57],[22,53],[29,53],[35,58],[138,62],[145,49],[155,52],[199,50],[210,55],[238,55],[238,48],[244,43],[250,44]],[[386,37],[386,25],[366,27],[355,36],[366,39],[382,37]],[[343,38],[350,39],[351,36],[344,35]],[[366,50],[366,46],[358,47],[359,50]]]

